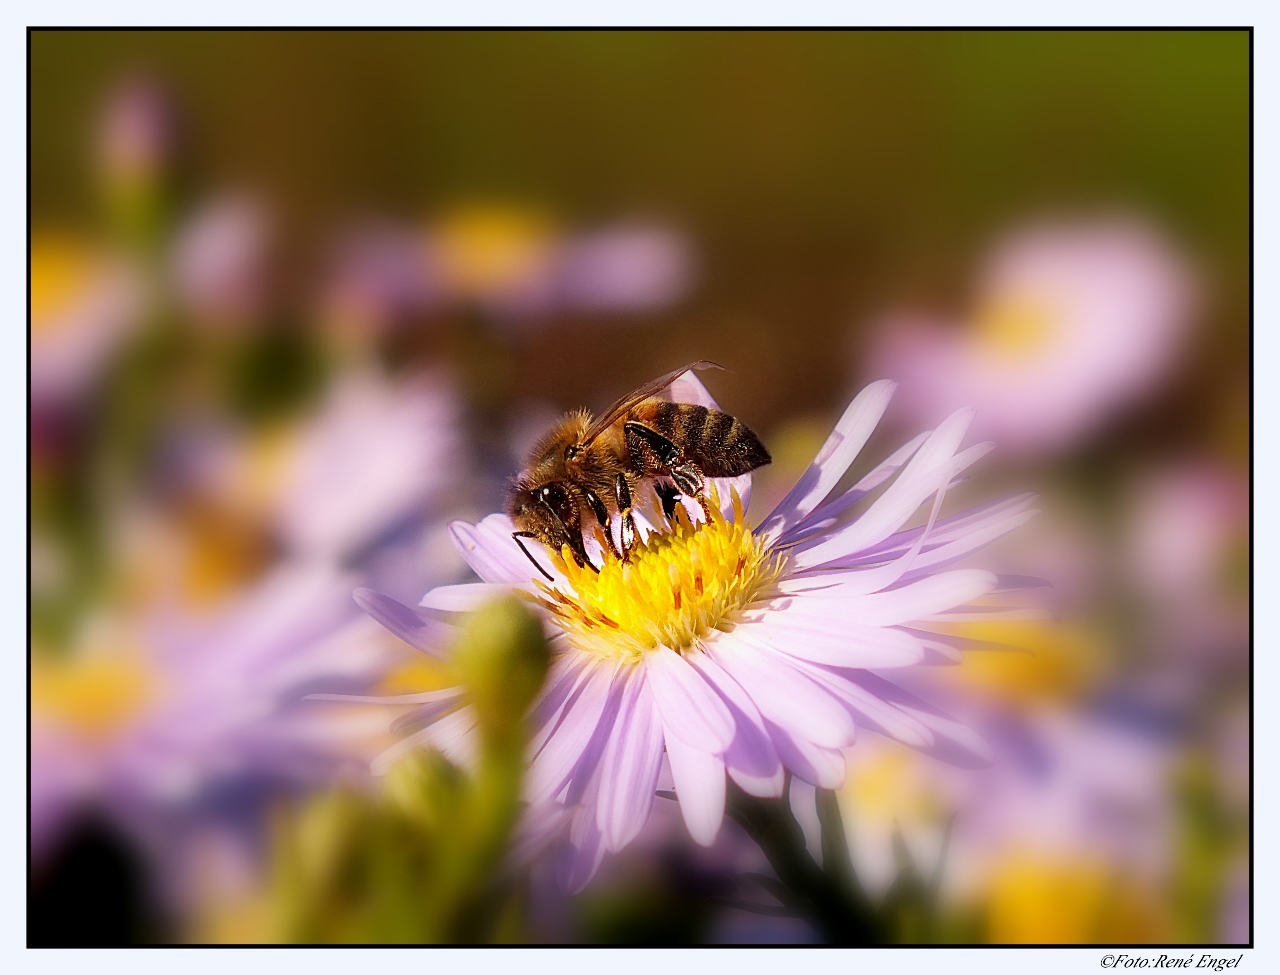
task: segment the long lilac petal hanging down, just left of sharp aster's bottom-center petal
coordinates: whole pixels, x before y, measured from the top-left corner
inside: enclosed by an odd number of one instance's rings
[[[644,827],[653,809],[662,766],[662,722],[643,668],[627,674],[627,685],[600,765],[596,824],[604,844],[617,852]]]

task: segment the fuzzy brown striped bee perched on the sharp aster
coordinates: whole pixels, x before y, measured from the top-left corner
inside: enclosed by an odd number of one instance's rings
[[[771,462],[764,444],[737,417],[657,399],[691,369],[721,366],[682,366],[627,393],[599,417],[585,409],[566,413],[534,447],[507,495],[507,513],[517,527],[512,537],[530,562],[538,566],[521,539],[536,539],[553,551],[567,545],[580,567],[594,569],[584,545],[593,521],[613,557],[628,562],[636,544],[631,499],[643,481],[653,484],[668,518],[681,494],[709,517],[708,477],[737,477]],[[621,516],[618,543],[613,514]]]

